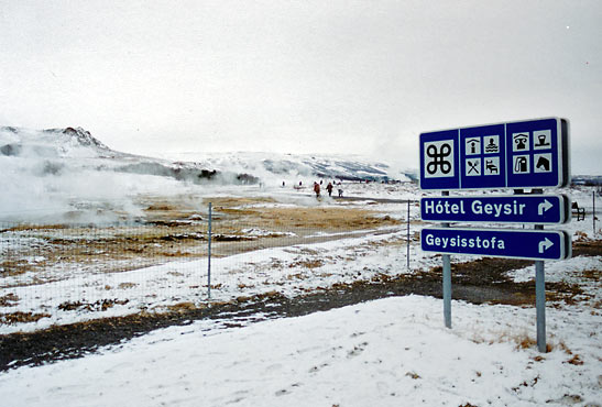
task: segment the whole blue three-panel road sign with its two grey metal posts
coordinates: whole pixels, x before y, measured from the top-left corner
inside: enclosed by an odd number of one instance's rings
[[[539,188],[570,182],[569,123],[547,118],[484,124],[420,134],[420,188],[441,190],[441,197],[420,200],[423,220],[441,222],[424,228],[423,251],[442,253],[444,317],[451,328],[450,254],[535,260],[537,346],[546,351],[546,260],[571,255],[571,238],[544,231],[544,224],[570,221],[570,200],[541,195]],[[532,189],[532,195],[458,196],[450,190]],[[458,229],[450,222],[530,223],[535,230]]]

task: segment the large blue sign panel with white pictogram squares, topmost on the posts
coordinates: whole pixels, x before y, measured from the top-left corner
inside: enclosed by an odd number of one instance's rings
[[[558,118],[422,133],[420,188],[566,186],[568,133]]]

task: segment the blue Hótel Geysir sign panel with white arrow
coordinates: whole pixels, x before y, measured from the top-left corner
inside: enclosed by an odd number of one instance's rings
[[[570,221],[565,195],[433,197],[420,199],[420,217],[435,222],[552,224]]]

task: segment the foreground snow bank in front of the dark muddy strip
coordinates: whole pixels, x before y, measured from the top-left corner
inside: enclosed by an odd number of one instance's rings
[[[7,406],[596,406],[600,315],[388,298],[223,329],[197,321],[99,354],[0,374]]]

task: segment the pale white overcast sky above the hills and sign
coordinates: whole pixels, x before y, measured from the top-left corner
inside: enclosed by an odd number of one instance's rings
[[[423,131],[550,116],[601,174],[600,0],[0,0],[0,125],[416,167]]]

